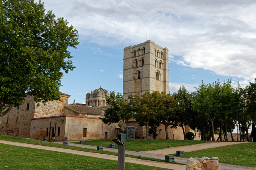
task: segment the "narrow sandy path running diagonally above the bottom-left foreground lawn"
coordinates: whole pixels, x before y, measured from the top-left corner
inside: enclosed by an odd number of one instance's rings
[[[96,158],[104,158],[104,159],[109,159],[109,160],[118,160],[118,156],[115,156],[115,155],[85,152],[85,151],[72,150],[72,149],[55,148],[55,147],[48,147],[48,146],[43,146],[43,145],[34,145],[34,144],[28,144],[28,143],[18,143],[18,142],[3,141],[3,140],[0,140],[0,143],[20,146],[20,147],[28,147],[28,148],[35,148],[35,149],[52,150],[52,151],[57,151],[57,152],[66,152],[66,153],[71,153],[71,154],[79,154],[79,155],[84,155],[84,156],[92,156],[92,157],[96,157]],[[150,160],[141,160],[141,159],[130,158],[130,157],[125,157],[125,162],[148,165],[148,166],[156,166],[159,168],[167,168],[167,169],[173,169],[173,170],[185,170],[185,168],[186,168],[185,165],[169,164],[169,163],[156,162],[156,161],[150,161]]]

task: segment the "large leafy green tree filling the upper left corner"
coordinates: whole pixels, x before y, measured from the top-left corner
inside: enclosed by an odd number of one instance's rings
[[[63,71],[73,70],[68,47],[78,31],[34,0],[0,3],[0,119],[24,101],[26,93],[44,104],[60,100]]]

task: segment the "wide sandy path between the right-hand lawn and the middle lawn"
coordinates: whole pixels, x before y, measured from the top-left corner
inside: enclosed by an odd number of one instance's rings
[[[209,148],[216,148],[216,147],[224,147],[228,145],[236,145],[241,144],[244,142],[209,142],[209,143],[200,143],[196,145],[188,145],[188,146],[182,146],[182,147],[173,147],[173,148],[166,148],[166,149],[158,149],[158,150],[147,150],[147,151],[141,151],[141,152],[147,152],[147,153],[153,153],[153,154],[176,154],[176,150],[182,150],[184,152],[191,152],[195,150],[203,150],[203,149],[209,149]]]

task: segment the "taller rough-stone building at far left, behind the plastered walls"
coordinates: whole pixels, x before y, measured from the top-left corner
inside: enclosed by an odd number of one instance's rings
[[[29,138],[31,120],[39,117],[60,116],[63,114],[64,105],[68,104],[70,95],[60,93],[60,101],[46,102],[44,105],[34,101],[34,97],[27,95],[25,101],[20,107],[13,107],[6,115],[2,117],[0,132],[3,135],[14,137]]]

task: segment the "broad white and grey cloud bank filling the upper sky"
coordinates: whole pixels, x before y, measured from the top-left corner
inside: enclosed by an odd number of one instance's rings
[[[148,30],[148,39],[168,47],[170,62],[244,81],[256,78],[256,1],[44,0],[44,3],[47,10],[53,10],[58,17],[64,16],[78,29],[80,40],[127,47],[144,42]]]

